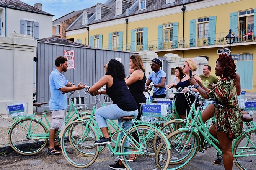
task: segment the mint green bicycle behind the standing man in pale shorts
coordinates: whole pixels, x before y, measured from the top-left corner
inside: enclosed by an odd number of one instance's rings
[[[65,125],[70,122],[84,117],[88,112],[80,113],[82,106],[75,107],[71,99],[73,91],[69,93],[70,109],[65,117]],[[42,109],[42,115],[39,117],[34,113],[33,115],[25,115],[24,117],[16,116],[12,120],[14,123],[8,130],[9,143],[11,147],[18,153],[23,155],[36,154],[46,146],[49,140],[49,129],[51,127],[47,119],[46,112],[44,112],[42,105],[44,103],[33,103],[33,106]],[[72,112],[72,110],[74,111]],[[46,124],[42,121],[45,119]],[[59,141],[60,130],[57,131],[55,141]]]

